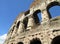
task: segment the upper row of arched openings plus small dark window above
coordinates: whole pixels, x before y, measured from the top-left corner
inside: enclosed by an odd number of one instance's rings
[[[56,17],[60,15],[60,3],[59,2],[52,2],[50,3],[47,8],[47,13],[49,16],[49,19],[51,19],[52,17]],[[25,12],[25,15],[29,14],[30,10]],[[42,22],[42,17],[41,17],[41,10],[38,9],[33,13],[33,19],[35,24],[40,24],[40,22]],[[19,27],[20,21],[17,23],[17,28]],[[27,28],[27,24],[28,24],[28,17],[26,17],[23,21],[24,27],[25,29]]]

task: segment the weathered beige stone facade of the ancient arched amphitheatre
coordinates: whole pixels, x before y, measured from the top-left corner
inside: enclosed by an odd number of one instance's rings
[[[51,18],[49,13],[55,5],[60,6],[60,0],[35,0],[28,11],[18,15],[4,44],[60,44],[60,17]]]

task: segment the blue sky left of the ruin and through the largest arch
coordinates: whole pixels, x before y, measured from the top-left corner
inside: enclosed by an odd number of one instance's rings
[[[0,0],[0,35],[8,32],[19,13],[29,9],[33,0]],[[50,8],[52,17],[60,15],[60,6]]]

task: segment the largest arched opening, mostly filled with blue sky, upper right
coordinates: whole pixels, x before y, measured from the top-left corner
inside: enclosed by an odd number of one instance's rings
[[[47,12],[49,14],[49,18],[56,17],[60,15],[60,3],[59,2],[51,2],[47,6]]]

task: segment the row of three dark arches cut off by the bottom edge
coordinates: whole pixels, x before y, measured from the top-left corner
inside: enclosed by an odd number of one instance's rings
[[[48,41],[47,41],[48,42]],[[18,42],[17,44],[24,44],[23,42]],[[29,44],[42,44],[39,38],[33,38]],[[56,36],[51,44],[60,44],[60,36]]]

